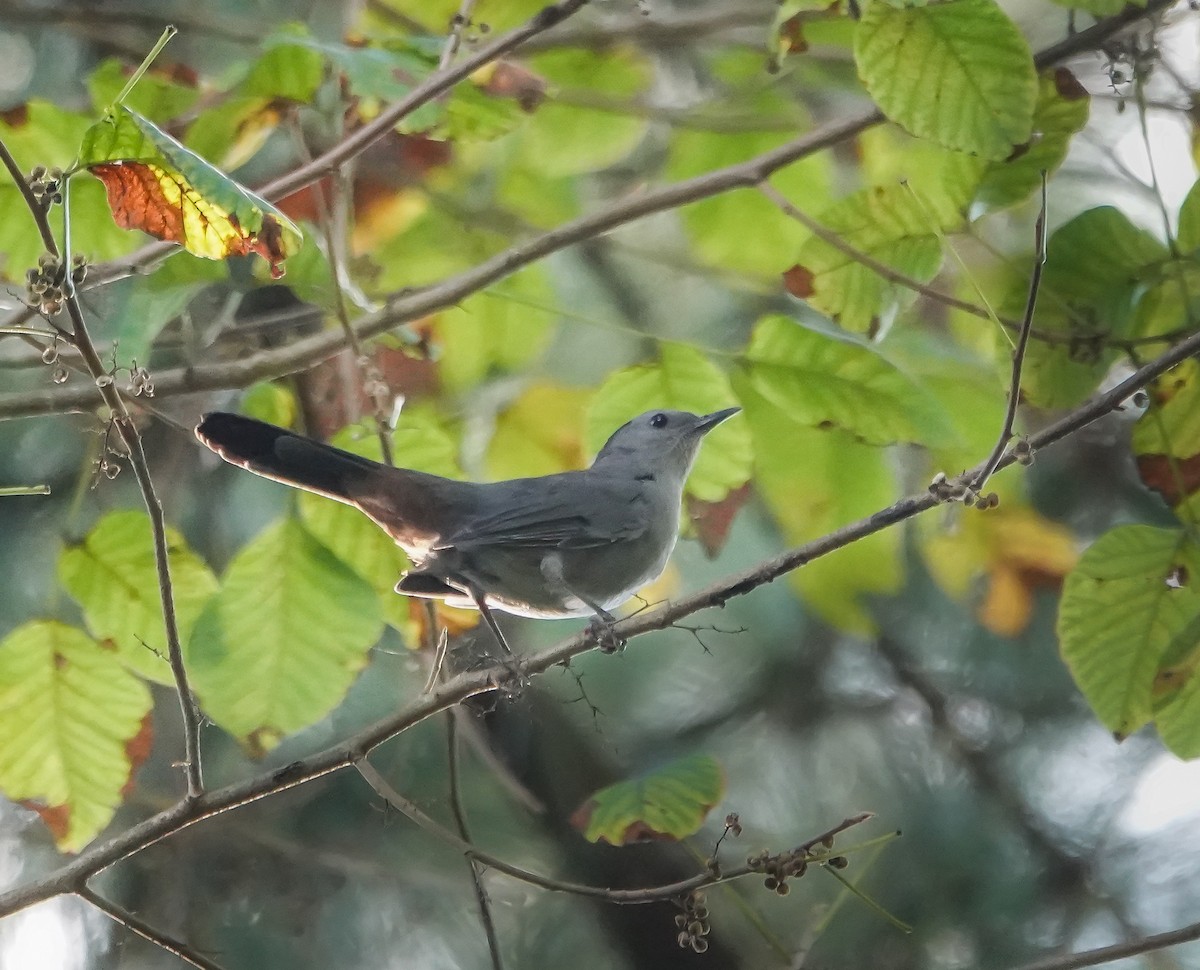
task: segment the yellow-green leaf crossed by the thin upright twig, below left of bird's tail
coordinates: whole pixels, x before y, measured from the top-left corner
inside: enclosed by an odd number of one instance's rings
[[[217,581],[173,528],[167,529],[167,551],[179,639],[186,643]],[[82,544],[62,550],[59,580],[83,607],[88,629],[109,641],[121,663],[157,683],[173,683],[154,539],[144,511],[112,511],[101,519]]]

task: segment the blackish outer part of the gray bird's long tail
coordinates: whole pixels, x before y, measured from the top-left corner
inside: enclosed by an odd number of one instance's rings
[[[354,496],[379,463],[282,427],[215,411],[196,426],[196,437],[233,465],[263,478],[356,504]]]

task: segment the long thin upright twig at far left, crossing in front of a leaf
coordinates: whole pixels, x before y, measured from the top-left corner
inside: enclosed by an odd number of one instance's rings
[[[90,388],[92,397],[95,399],[98,391],[112,412],[113,423],[121,437],[121,442],[125,444],[130,466],[133,468],[133,475],[137,479],[146,513],[150,516],[150,527],[154,535],[155,569],[158,579],[158,597],[162,603],[163,629],[167,636],[167,652],[184,720],[184,768],[187,779],[187,797],[196,798],[204,790],[200,772],[199,712],[192,697],[191,688],[187,684],[184,649],[179,640],[179,622],[175,616],[175,597],[170,581],[170,561],[167,552],[167,521],[163,515],[162,503],[158,501],[158,495],[154,486],[154,480],[150,477],[150,463],[146,460],[145,449],[142,444],[142,435],[125,406],[125,401],[116,388],[116,382],[108,373],[103,361],[96,353],[95,345],[91,342],[91,335],[88,333],[88,324],[83,316],[83,306],[79,303],[79,294],[76,292],[71,280],[70,250],[65,247],[64,252],[59,252],[58,242],[50,229],[47,208],[34,198],[28,182],[20,176],[20,169],[17,167],[16,160],[2,140],[0,140],[0,158],[4,160],[5,167],[17,179],[18,188],[22,188],[22,194],[25,197],[26,205],[34,216],[34,221],[37,223],[38,232],[43,241],[47,242],[47,250],[59,261],[66,309],[72,324],[72,342],[79,351],[80,357],[83,357],[83,363],[92,377],[92,387]],[[92,402],[95,403],[95,400]]]

